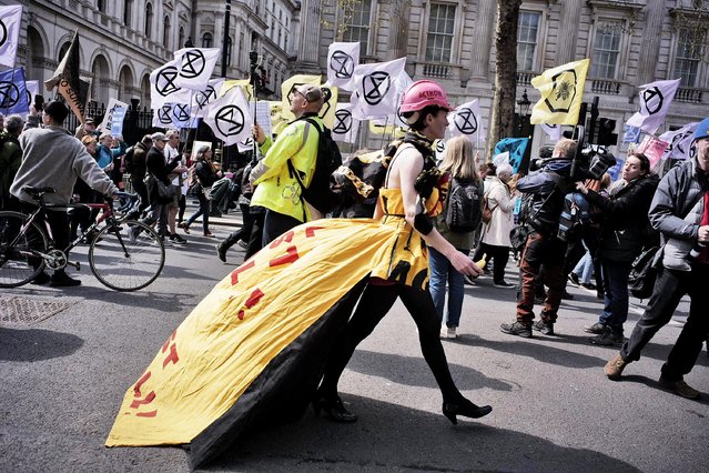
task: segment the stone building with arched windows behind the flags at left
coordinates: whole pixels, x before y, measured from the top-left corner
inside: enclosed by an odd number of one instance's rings
[[[150,105],[150,73],[172,59],[190,40],[221,48],[224,0],[1,0],[23,4],[18,66],[28,80],[44,81],[55,70],[79,31],[81,72],[92,78],[92,100],[109,98]],[[262,56],[261,74],[269,92],[291,76],[297,51],[300,6],[293,0],[232,1],[226,40],[226,76],[249,77],[249,52]],[[221,73],[221,58],[215,76]]]

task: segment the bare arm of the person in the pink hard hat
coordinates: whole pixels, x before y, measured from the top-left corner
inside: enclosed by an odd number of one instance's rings
[[[406,222],[414,229],[414,231],[421,234],[427,245],[436,249],[445,255],[459,273],[472,275],[474,278],[482,274],[482,270],[475,265],[468,256],[456,250],[455,246],[440,236],[440,233],[438,233],[435,227],[433,227],[427,234],[424,234],[416,228],[416,202],[418,201],[418,193],[416,192],[416,189],[414,189],[414,183],[416,182],[418,174],[421,174],[421,171],[424,169],[424,161],[418,151],[413,148],[403,150],[393,165],[393,173],[398,174],[399,178]]]

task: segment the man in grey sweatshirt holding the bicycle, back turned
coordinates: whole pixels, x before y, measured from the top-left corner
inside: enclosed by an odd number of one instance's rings
[[[18,169],[10,193],[22,203],[26,213],[37,209],[36,201],[24,191],[26,187],[53,188],[54,193],[44,195],[48,203],[67,204],[71,201],[77,178],[81,178],[92,189],[113,194],[118,188],[95,160],[87,152],[81,141],[62,128],[69,109],[61,102],[53,101],[44,107],[42,122],[44,127],[26,130],[20,135],[22,164]],[[36,117],[30,115],[28,124]],[[48,210],[47,221],[52,230],[54,246],[64,250],[69,246],[69,219],[67,209]],[[70,278],[64,270],[54,271],[50,278],[40,273],[33,284],[50,283],[53,286],[79,285],[81,281]]]

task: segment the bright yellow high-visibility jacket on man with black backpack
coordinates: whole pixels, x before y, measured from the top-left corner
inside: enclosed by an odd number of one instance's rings
[[[313,118],[320,127],[323,127],[320,118]],[[305,120],[296,120],[288,124],[275,142],[266,138],[260,147],[265,158],[252,173],[252,178],[255,177],[252,183],[256,185],[256,190],[251,204],[265,207],[302,222],[304,213],[301,201],[302,190],[295,177],[288,172],[287,161],[292,160],[293,167],[301,174],[303,184],[310,185],[317,159],[317,130]],[[305,215],[305,221],[312,220],[307,205]]]

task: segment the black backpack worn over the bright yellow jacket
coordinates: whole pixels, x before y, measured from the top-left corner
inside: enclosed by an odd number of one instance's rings
[[[326,214],[338,205],[337,197],[330,190],[330,177],[342,165],[342,154],[327,127],[323,125],[321,130],[317,122],[310,117],[303,118],[302,120],[315,127],[318,134],[317,159],[315,161],[315,171],[313,172],[311,184],[307,188],[303,184],[301,174],[295,167],[293,167],[291,160],[288,160],[288,171],[301,185],[301,201],[307,201],[307,203],[317,209],[322,214]],[[303,217],[305,217],[305,209],[303,209]]]

